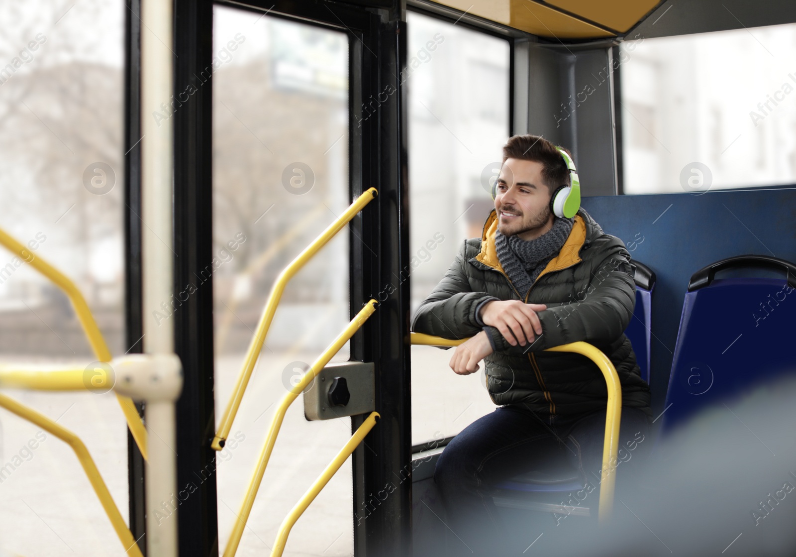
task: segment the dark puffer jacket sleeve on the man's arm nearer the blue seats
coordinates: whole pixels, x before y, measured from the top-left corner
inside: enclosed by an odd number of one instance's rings
[[[607,257],[592,269],[587,288],[576,292],[571,304],[538,313],[542,334],[530,346],[511,346],[497,328],[487,327],[497,351],[517,355],[581,340],[596,347],[614,342],[630,324],[635,306],[635,283],[629,261],[630,254],[623,246],[612,247]]]

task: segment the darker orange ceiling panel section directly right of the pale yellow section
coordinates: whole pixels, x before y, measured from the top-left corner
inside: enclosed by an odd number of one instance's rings
[[[557,39],[584,39],[613,37],[605,29],[583,22],[571,15],[562,14],[548,6],[529,2],[529,0],[511,0],[512,27],[539,35]]]

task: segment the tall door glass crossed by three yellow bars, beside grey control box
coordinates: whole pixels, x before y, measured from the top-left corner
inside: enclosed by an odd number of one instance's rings
[[[216,415],[227,405],[279,273],[349,206],[348,40],[305,23],[214,7],[213,272]],[[229,247],[229,242],[235,249]],[[341,230],[287,285],[218,456],[220,553],[276,406],[349,323],[349,245]],[[348,345],[333,362],[349,358]],[[307,422],[299,397],[241,539],[271,551],[279,525],[349,440],[350,418]],[[285,555],[353,551],[351,459],[291,531]]]

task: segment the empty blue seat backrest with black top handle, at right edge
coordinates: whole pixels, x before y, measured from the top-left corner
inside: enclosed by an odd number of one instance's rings
[[[784,269],[787,279],[727,278],[722,269]],[[739,256],[694,273],[685,294],[661,431],[709,404],[756,383],[796,372],[796,265],[767,256]]]

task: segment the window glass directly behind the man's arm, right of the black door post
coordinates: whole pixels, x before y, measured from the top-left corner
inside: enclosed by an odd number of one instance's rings
[[[509,44],[409,13],[412,315],[493,207],[490,179],[509,130]],[[481,371],[455,375],[452,350],[412,347],[412,443],[447,437],[494,409]]]

